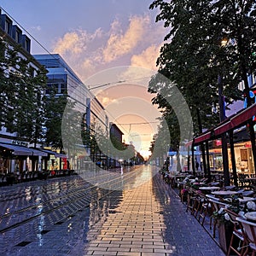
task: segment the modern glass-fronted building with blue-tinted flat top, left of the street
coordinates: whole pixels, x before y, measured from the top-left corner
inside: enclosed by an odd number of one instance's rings
[[[34,55],[34,58],[47,69],[47,86],[55,89],[55,96],[67,94],[68,99],[75,102],[74,111],[78,113],[79,122],[84,124],[84,129],[87,129],[92,136],[101,133],[102,136],[108,137],[108,114],[101,102],[84,85],[61,55]],[[46,91],[46,96],[48,94],[49,91]],[[75,138],[76,143],[72,145],[72,149],[68,146],[64,147],[64,150],[68,151],[66,153],[74,170],[86,168],[89,158],[97,162],[99,158],[103,157],[101,152],[95,149],[96,147],[87,146],[86,142],[83,143],[79,136],[80,131],[78,137]],[[94,149],[92,150],[92,148]]]

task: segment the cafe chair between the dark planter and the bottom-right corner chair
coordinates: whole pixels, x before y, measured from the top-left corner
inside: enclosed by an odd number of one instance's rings
[[[247,253],[247,239],[243,235],[241,224],[236,221],[236,218],[239,218],[239,215],[236,214],[236,212],[232,212],[227,208],[225,208],[224,211],[229,214],[230,222],[234,224],[234,229],[230,239],[230,246],[227,256],[230,256],[231,251],[239,256],[244,255],[245,253]],[[239,242],[238,245],[236,241]]]

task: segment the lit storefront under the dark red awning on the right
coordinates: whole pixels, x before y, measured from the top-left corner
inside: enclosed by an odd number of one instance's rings
[[[220,138],[225,135],[226,139],[229,140],[229,148],[228,148],[228,165],[227,168],[223,167],[224,172],[224,184],[230,184],[230,172],[234,177],[234,183],[237,185],[237,172],[246,172],[249,174],[255,174],[255,166],[253,162],[256,162],[256,149],[255,149],[255,141],[248,137],[248,134],[254,137],[252,129],[250,132],[247,131],[247,128],[252,128],[252,121],[255,119],[256,113],[256,103],[252,106],[242,109],[239,113],[227,118],[219,124],[217,127],[212,128],[200,136],[195,137],[192,141],[187,143],[187,146],[195,147],[195,145],[205,144],[206,146],[206,159],[205,163],[207,165],[207,169],[205,172],[208,176],[211,175],[211,167],[218,169],[218,166],[224,166],[223,157],[221,154],[222,147],[213,147],[210,149],[209,144],[218,140],[221,142]],[[255,120],[254,120],[255,121]],[[249,126],[250,124],[250,126]],[[243,129],[245,127],[245,129]],[[238,139],[236,134],[237,130],[244,130],[247,137],[243,137]],[[215,151],[214,151],[215,150]],[[210,158],[210,154],[212,153],[212,163],[211,160],[207,160]]]

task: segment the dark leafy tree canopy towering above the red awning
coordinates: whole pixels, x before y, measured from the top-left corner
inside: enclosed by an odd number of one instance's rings
[[[255,4],[243,0],[156,0],[150,5],[150,9],[160,9],[156,22],[163,21],[169,28],[157,60],[159,73],[148,85],[149,92],[157,93],[153,103],[169,116],[169,129],[175,114],[166,97],[172,94],[173,84],[189,106],[195,134],[219,122],[220,85],[226,108],[242,98],[240,82],[248,90],[247,75],[256,70]],[[169,82],[161,82],[158,77],[162,75]]]

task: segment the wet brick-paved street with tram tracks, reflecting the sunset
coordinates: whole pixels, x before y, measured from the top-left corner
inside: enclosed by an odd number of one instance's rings
[[[0,255],[224,255],[155,172],[117,172],[115,190],[79,176],[0,188]]]

